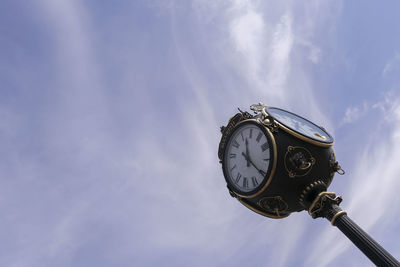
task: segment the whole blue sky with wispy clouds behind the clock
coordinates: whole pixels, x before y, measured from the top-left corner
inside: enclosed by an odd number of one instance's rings
[[[400,258],[396,1],[2,1],[1,266],[372,266],[306,212],[232,199],[219,127],[323,125],[330,191]]]

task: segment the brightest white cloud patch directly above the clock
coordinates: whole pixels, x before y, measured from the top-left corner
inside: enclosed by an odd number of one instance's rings
[[[286,96],[293,46],[292,16],[285,13],[275,25],[268,25],[257,10],[255,6],[236,10],[238,15],[229,24],[233,45],[242,62],[238,68],[246,73],[255,93],[264,92],[282,100]]]

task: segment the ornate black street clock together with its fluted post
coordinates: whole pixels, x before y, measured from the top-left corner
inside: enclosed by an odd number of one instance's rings
[[[333,138],[323,128],[292,112],[252,105],[221,127],[218,157],[230,195],[250,210],[281,219],[307,210],[339,228],[377,266],[400,263],[352,221],[327,192],[336,161]]]

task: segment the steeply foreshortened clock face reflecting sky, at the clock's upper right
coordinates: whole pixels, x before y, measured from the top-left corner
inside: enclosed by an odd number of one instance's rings
[[[290,130],[318,142],[333,143],[333,138],[325,130],[296,114],[279,108],[267,108],[267,112]]]

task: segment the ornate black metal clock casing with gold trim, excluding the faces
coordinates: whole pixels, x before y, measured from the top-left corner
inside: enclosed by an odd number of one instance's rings
[[[327,190],[335,172],[341,171],[332,148],[332,137],[328,136],[327,139],[331,141],[324,142],[293,131],[279,122],[273,114],[269,114],[268,107],[262,103],[252,105],[251,109],[255,115],[239,110],[227,126],[221,127],[218,158],[223,163],[226,144],[237,125],[252,120],[272,136],[275,149],[275,162],[272,162],[274,170],[271,172],[272,177],[269,177],[268,186],[251,196],[235,192],[224,171],[229,193],[247,208],[270,218],[284,218],[294,211],[308,209],[315,197]],[[322,127],[319,128],[326,133]],[[316,133],[318,135],[321,136]]]

